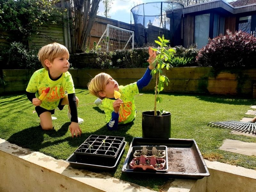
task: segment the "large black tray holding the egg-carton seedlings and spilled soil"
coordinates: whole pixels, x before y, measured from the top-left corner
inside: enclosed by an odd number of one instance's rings
[[[129,170],[132,160],[133,146],[164,145],[167,146],[167,172],[145,172]],[[122,167],[122,172],[128,174],[157,174],[169,178],[202,179],[210,176],[203,156],[197,147],[195,140],[190,139],[148,139],[135,137],[132,139],[130,148]]]

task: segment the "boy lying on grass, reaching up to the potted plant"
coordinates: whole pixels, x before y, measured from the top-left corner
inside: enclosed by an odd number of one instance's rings
[[[149,66],[144,76],[135,83],[120,86],[108,74],[100,73],[96,75],[89,83],[88,89],[92,95],[102,99],[102,107],[106,114],[106,122],[109,130],[117,130],[118,124],[130,123],[136,116],[134,105],[134,95],[139,90],[147,86],[152,76],[151,70],[155,68],[153,61],[156,59],[156,52],[148,48]],[[121,93],[120,98],[115,99],[114,92]]]

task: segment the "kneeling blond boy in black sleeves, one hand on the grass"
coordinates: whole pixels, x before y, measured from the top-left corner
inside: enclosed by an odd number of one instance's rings
[[[72,77],[68,72],[70,66],[68,49],[58,43],[48,44],[39,50],[38,59],[44,68],[37,70],[31,76],[26,91],[28,99],[36,106],[42,129],[52,130],[52,120],[57,119],[52,117],[54,109],[58,107],[62,110],[65,105],[68,105],[71,136],[74,137],[74,133],[76,137],[78,134],[81,136],[82,131],[78,124],[83,123],[84,120],[77,117],[79,100],[75,94]],[[41,94],[43,98],[39,97]]]

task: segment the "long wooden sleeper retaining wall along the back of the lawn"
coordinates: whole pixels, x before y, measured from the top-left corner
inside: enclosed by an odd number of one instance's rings
[[[146,68],[132,69],[69,69],[76,88],[87,88],[87,83],[100,72],[111,75],[119,85],[136,82],[145,73]],[[33,74],[28,69],[3,69],[5,86],[0,85],[0,94],[24,92]],[[167,92],[242,94],[252,97],[253,84],[256,83],[256,69],[242,70],[238,73],[220,72],[216,77],[212,67],[182,67],[164,70],[164,75],[170,80],[165,86]],[[143,90],[154,90],[155,77]],[[254,85],[254,89],[256,86]]]

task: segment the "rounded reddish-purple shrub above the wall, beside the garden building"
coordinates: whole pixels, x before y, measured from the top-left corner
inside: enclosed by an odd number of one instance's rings
[[[212,66],[215,70],[227,67],[255,67],[256,37],[238,31],[209,39],[199,50],[196,61],[199,66]]]

